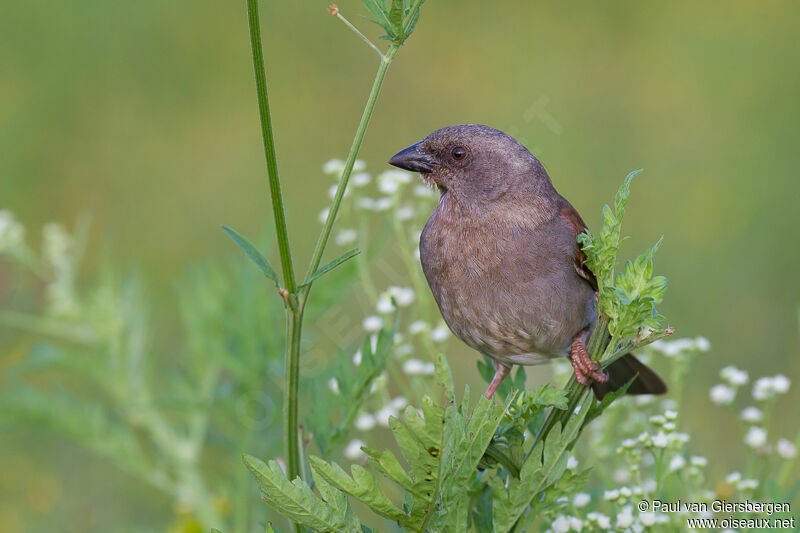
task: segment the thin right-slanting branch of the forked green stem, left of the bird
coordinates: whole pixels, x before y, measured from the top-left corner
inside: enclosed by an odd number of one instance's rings
[[[347,160],[344,163],[344,171],[342,172],[342,178],[339,180],[339,185],[336,188],[336,195],[333,197],[330,210],[328,211],[328,217],[325,219],[325,225],[322,227],[322,232],[320,233],[319,238],[317,239],[317,244],[314,247],[314,253],[311,255],[311,262],[309,263],[308,271],[306,272],[306,279],[311,277],[317,271],[317,268],[319,268],[319,263],[322,261],[322,254],[325,252],[325,246],[327,246],[328,239],[331,236],[333,223],[336,220],[336,215],[339,213],[339,207],[342,204],[344,192],[347,189],[348,182],[350,181],[350,174],[353,172],[353,165],[355,165],[356,157],[358,157],[358,151],[361,148],[361,143],[364,142],[364,135],[367,133],[367,126],[372,118],[372,112],[375,109],[375,103],[378,101],[378,95],[381,92],[383,80],[386,78],[386,72],[389,70],[389,65],[392,64],[392,60],[394,59],[397,50],[397,44],[392,43],[389,45],[389,49],[386,51],[386,54],[384,54],[383,59],[381,59],[380,65],[378,66],[378,72],[375,74],[375,81],[372,83],[372,89],[369,92],[367,103],[364,106],[364,112],[361,114],[361,121],[358,123],[358,127],[356,128],[356,135],[353,138],[353,144],[350,146],[350,153],[347,154]],[[303,287],[300,294],[300,305],[303,305],[310,290],[311,284]]]

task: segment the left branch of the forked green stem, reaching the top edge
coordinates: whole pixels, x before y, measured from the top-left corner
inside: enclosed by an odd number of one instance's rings
[[[289,248],[289,232],[286,229],[281,181],[278,177],[278,158],[275,155],[275,139],[272,135],[272,117],[269,113],[269,97],[267,95],[267,73],[264,68],[264,53],[261,47],[261,24],[258,21],[258,4],[256,0],[247,0],[247,18],[250,26],[250,46],[253,50],[253,70],[256,75],[256,90],[258,92],[258,113],[261,117],[261,137],[264,140],[264,157],[267,160],[269,194],[272,199],[275,232],[278,235],[278,251],[281,256],[283,283],[286,290],[290,294],[294,294],[297,290],[297,284],[294,279],[294,268],[292,267],[292,251]]]

